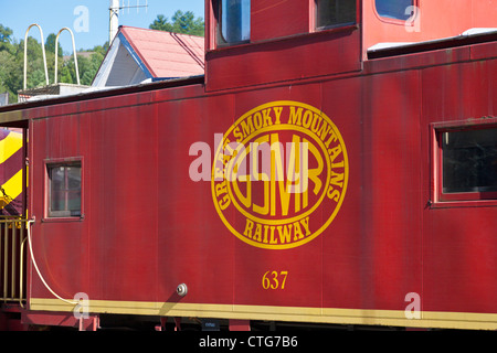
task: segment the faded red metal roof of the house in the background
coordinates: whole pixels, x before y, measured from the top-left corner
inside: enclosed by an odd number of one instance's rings
[[[204,74],[202,36],[125,25],[119,30],[155,77]]]

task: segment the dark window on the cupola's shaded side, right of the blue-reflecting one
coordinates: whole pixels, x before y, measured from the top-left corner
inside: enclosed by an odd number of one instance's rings
[[[357,21],[356,0],[316,0],[316,28],[327,29]]]

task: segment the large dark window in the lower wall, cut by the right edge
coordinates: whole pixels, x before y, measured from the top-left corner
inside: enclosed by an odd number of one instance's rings
[[[497,127],[440,132],[442,201],[497,199]]]

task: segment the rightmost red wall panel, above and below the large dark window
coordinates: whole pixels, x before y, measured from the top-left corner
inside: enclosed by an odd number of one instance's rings
[[[423,126],[431,122],[477,124],[495,116],[497,62],[473,62],[425,69],[423,79]],[[431,132],[431,131],[430,131]],[[437,148],[423,135],[423,158]],[[432,160],[432,164],[435,161]],[[429,175],[427,163],[423,174]],[[425,197],[431,197],[431,179],[423,180]],[[473,207],[472,202],[425,207],[423,211],[424,310],[497,312],[493,297],[495,276],[495,206]]]

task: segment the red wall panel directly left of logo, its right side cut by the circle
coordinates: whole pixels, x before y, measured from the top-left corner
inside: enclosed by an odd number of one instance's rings
[[[233,301],[233,237],[212,206],[210,178],[194,182],[189,157],[198,142],[214,150],[214,133],[233,119],[233,98],[163,103],[157,107],[158,156],[158,299],[171,302]],[[202,152],[203,153],[203,152]],[[211,161],[211,153],[207,159]],[[208,173],[210,175],[210,172]],[[180,298],[177,286],[186,284]]]

